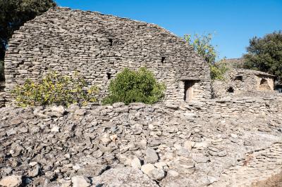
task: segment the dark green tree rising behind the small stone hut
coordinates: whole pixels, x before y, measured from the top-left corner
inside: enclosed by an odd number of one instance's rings
[[[250,39],[245,68],[269,72],[282,80],[282,32],[273,32],[264,37]]]

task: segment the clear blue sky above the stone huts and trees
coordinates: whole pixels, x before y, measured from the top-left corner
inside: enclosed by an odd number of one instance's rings
[[[282,30],[282,0],[56,0],[59,6],[155,23],[183,37],[214,33],[219,58],[239,58],[249,39]]]

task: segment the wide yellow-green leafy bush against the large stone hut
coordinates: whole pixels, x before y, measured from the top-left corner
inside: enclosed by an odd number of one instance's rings
[[[95,102],[97,92],[96,86],[87,88],[87,82],[78,73],[63,76],[51,72],[39,83],[27,79],[23,86],[18,85],[13,89],[12,96],[21,107],[52,104],[68,106],[72,103],[84,105]]]

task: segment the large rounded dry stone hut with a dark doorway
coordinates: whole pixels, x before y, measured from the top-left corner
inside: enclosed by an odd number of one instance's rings
[[[146,22],[51,8],[15,32],[5,57],[6,91],[48,71],[77,70],[106,96],[124,67],[147,67],[166,84],[166,101],[210,98],[209,66],[183,39]]]

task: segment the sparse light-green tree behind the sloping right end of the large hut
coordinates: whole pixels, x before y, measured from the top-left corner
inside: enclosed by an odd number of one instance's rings
[[[200,54],[200,56],[202,56],[202,58],[209,64],[212,79],[223,80],[223,75],[228,68],[223,64],[219,65],[215,63],[217,53],[215,47],[211,44],[212,34],[202,36],[199,34],[194,34],[194,36],[185,34],[184,39],[193,47],[194,51]]]

